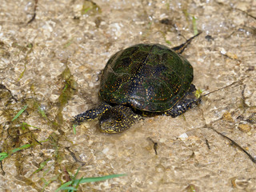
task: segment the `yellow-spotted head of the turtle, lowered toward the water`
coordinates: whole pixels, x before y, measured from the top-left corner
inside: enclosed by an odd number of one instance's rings
[[[141,118],[127,106],[114,106],[99,118],[100,130],[106,134],[116,134],[127,130]]]

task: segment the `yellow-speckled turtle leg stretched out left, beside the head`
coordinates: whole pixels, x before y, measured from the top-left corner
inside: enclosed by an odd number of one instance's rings
[[[107,104],[106,102],[102,102],[100,106],[95,109],[86,110],[86,112],[82,114],[78,114],[74,117],[74,124],[79,125],[81,122],[86,120],[91,120],[94,118],[98,118],[99,115],[104,114],[106,110],[109,110],[112,106]]]

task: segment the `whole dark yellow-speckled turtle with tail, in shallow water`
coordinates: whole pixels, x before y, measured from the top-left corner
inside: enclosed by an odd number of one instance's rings
[[[190,62],[181,54],[193,38],[169,48],[141,43],[119,50],[102,72],[101,103],[74,117],[74,124],[98,118],[100,131],[121,133],[145,116],[177,117],[198,105]]]

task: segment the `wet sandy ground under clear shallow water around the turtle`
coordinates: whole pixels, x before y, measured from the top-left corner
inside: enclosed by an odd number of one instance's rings
[[[256,191],[255,163],[234,144],[255,158],[255,17],[254,0],[2,1],[0,150],[31,147],[2,161],[0,190],[54,191],[82,166],[78,178],[126,176],[78,191]],[[196,30],[183,54],[194,84],[224,89],[178,118],[115,135],[90,121],[74,134],[70,120],[97,106],[112,54],[140,42],[178,46]]]

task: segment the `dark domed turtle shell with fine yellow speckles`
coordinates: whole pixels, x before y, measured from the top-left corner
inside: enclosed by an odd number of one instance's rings
[[[193,67],[167,46],[138,44],[106,63],[99,95],[103,101],[138,110],[170,110],[190,89]]]

